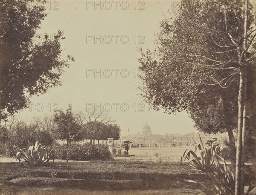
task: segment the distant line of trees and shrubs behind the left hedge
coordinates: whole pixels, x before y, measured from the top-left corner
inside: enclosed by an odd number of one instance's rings
[[[54,110],[53,115],[43,118],[32,118],[29,122],[10,116],[0,126],[1,148],[6,144],[7,155],[14,155],[17,148],[23,149],[39,141],[44,146],[56,144],[58,140],[68,143],[79,143],[89,139],[90,143],[108,138],[118,140],[121,127],[111,120],[105,112],[96,109],[87,112],[72,111],[69,105],[66,111]]]

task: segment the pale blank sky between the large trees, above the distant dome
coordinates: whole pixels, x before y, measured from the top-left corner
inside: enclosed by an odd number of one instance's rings
[[[63,85],[39,97],[33,96],[32,112],[26,109],[20,112],[20,118],[30,120],[34,116],[51,115],[54,106],[66,109],[68,103],[74,111],[96,104],[99,109],[111,109],[107,113],[122,127],[122,135],[128,134],[128,128],[131,134],[141,133],[146,122],[152,134],[197,132],[186,112],[168,115],[148,110],[148,105],[137,95],[140,93],[136,87],[140,85],[136,76],[140,57],[137,48],[154,49],[154,33],[159,31],[159,22],[168,17],[168,9],[173,12],[178,1],[136,1],[136,9],[134,1],[116,1],[116,5],[109,2],[102,1],[102,9],[100,6],[95,9],[95,1],[49,1],[49,14],[39,32],[52,34],[63,30],[66,37],[61,42],[65,49],[63,57],[70,54],[76,61],[65,69],[61,77]],[[99,74],[94,75],[95,72]]]

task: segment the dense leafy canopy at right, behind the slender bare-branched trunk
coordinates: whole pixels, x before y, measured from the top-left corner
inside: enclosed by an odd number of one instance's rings
[[[142,96],[152,108],[167,113],[187,111],[205,133],[228,132],[235,147],[239,63],[244,31],[243,0],[182,0],[177,15],[160,23],[157,49],[141,50]],[[247,131],[255,143],[255,26],[248,6]],[[233,37],[233,38],[230,38]],[[240,44],[240,45],[239,45]],[[249,46],[249,44],[248,44]],[[250,49],[249,49],[250,48]],[[252,124],[253,123],[253,124]],[[254,126],[253,126],[254,125]],[[249,145],[248,145],[249,146]]]

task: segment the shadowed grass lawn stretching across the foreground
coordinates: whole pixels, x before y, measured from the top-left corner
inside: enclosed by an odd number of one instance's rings
[[[198,189],[185,179],[195,175],[207,178],[187,165],[170,162],[50,162],[41,167],[0,163],[0,168],[1,194],[122,194],[124,190],[130,194],[180,194]]]

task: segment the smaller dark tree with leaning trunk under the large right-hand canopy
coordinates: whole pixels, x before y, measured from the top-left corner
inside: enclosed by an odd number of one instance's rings
[[[201,104],[196,108],[190,107],[189,114],[195,122],[195,127],[201,132],[209,134],[227,132],[230,146],[235,148],[233,130],[237,127],[237,99],[231,97],[233,96],[225,91],[223,95],[216,92],[199,95]]]

